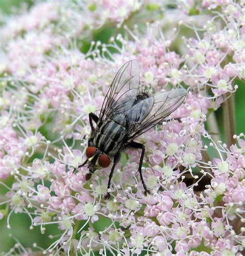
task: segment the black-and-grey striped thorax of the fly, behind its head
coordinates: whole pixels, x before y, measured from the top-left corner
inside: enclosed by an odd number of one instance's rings
[[[94,139],[95,145],[103,152],[114,154],[121,147],[126,135],[126,119],[124,115],[117,115],[106,120],[100,127]]]

